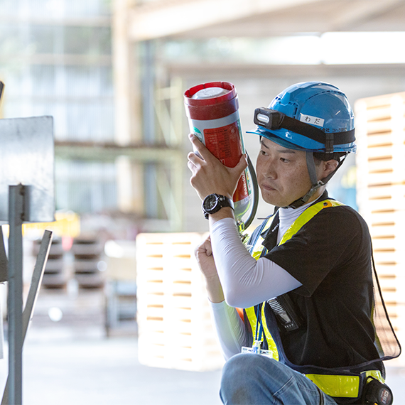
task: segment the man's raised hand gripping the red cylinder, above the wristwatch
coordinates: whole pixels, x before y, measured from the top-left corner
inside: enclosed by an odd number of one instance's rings
[[[195,151],[188,153],[188,168],[191,175],[190,184],[195,188],[201,200],[207,195],[217,193],[232,199],[237,183],[245,168],[247,168],[247,155],[242,155],[234,168],[224,166],[208,149],[190,134],[190,141]]]

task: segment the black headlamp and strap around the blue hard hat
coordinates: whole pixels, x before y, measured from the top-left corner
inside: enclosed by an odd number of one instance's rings
[[[266,129],[288,129],[306,136],[313,141],[325,145],[325,153],[333,153],[334,146],[342,144],[350,144],[355,141],[355,130],[342,132],[324,132],[320,128],[316,128],[311,124],[299,121],[298,119],[288,117],[288,115],[279,112],[275,109],[259,107],[254,110],[254,124],[263,126]],[[339,144],[336,143],[334,135],[339,134]]]

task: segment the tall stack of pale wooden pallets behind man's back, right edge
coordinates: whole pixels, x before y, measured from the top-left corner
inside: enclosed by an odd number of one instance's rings
[[[405,92],[360,99],[355,112],[357,202],[392,325],[405,342]],[[405,364],[401,357],[397,364]]]

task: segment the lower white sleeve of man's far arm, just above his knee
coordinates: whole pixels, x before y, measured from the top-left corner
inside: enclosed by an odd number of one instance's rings
[[[246,339],[244,323],[237,310],[222,301],[210,303],[211,318],[225,360],[241,352]]]

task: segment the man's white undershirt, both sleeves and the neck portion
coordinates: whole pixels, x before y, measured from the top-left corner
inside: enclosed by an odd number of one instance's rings
[[[311,203],[279,210],[278,242]],[[234,307],[249,308],[302,284],[273,261],[255,260],[241,242],[231,218],[215,222],[210,233],[212,254],[225,295],[225,301],[210,303],[210,308],[222,355],[228,360],[240,353],[246,338],[244,323]]]

